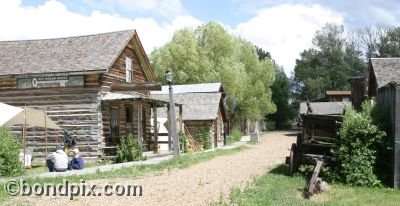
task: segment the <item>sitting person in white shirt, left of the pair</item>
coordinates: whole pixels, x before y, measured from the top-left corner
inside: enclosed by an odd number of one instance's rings
[[[68,155],[64,152],[61,145],[56,146],[56,151],[51,153],[46,159],[49,172],[65,172],[68,168]]]

